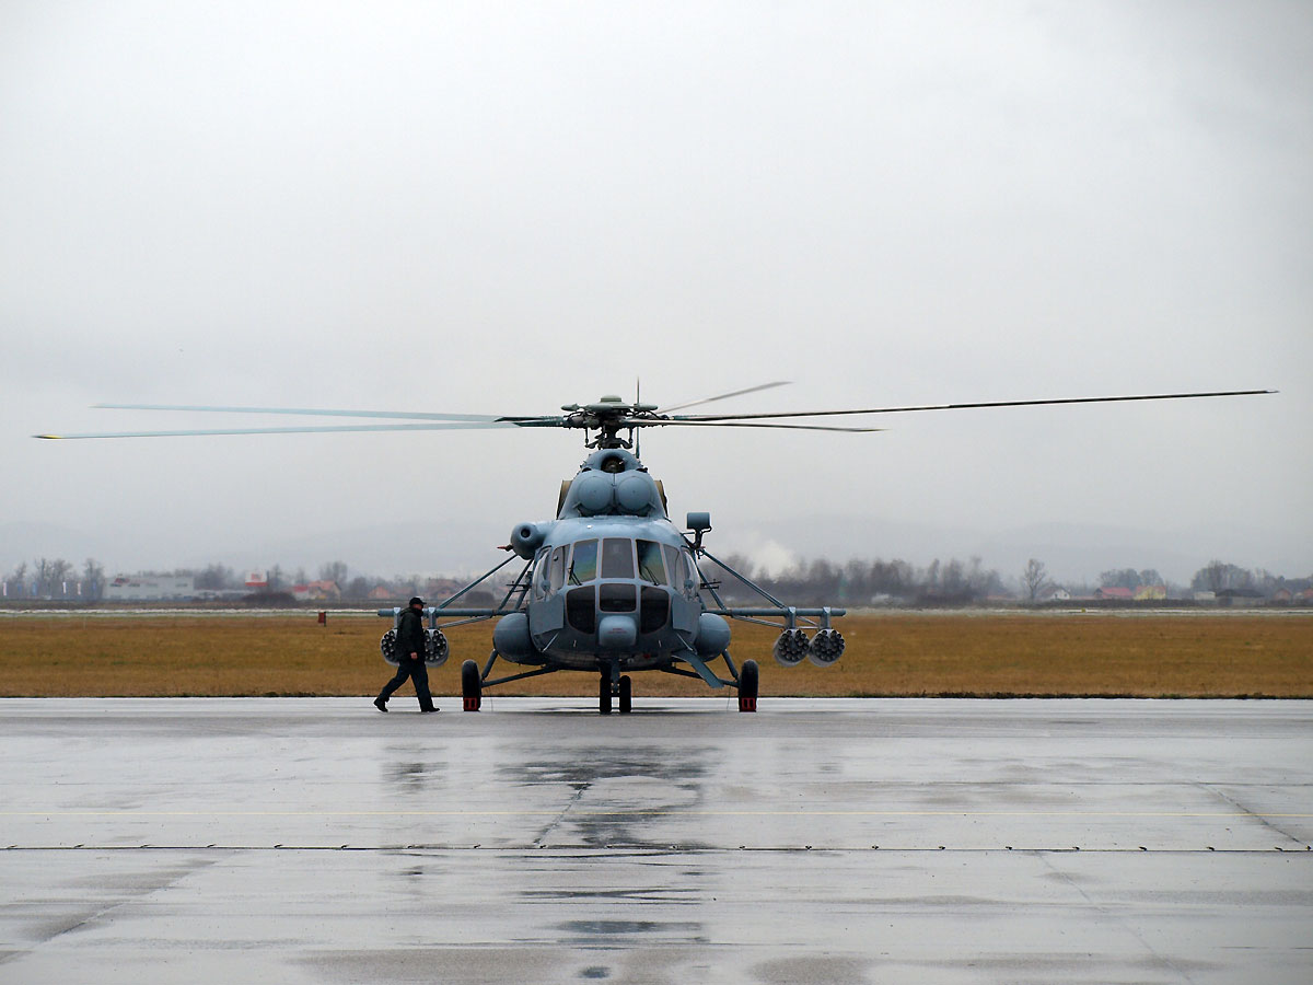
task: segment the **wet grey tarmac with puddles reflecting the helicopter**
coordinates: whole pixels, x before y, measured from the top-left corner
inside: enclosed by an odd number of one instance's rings
[[[1313,703],[411,700],[0,703],[0,981],[1313,981]]]

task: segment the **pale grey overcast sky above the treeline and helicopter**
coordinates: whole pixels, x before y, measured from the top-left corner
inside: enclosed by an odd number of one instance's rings
[[[726,411],[1278,389],[643,458],[760,557],[1081,527],[1306,575],[1310,314],[1306,3],[0,7],[5,571],[47,525],[137,570],[407,520],[343,559],[465,570],[583,450],[30,437],[284,423],[92,403],[551,414],[641,377],[793,381]]]

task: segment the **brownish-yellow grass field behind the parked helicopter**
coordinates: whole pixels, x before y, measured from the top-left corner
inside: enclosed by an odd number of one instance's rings
[[[378,655],[387,625],[339,613],[327,626],[314,613],[3,616],[0,696],[372,695],[391,674]],[[762,665],[763,696],[1313,697],[1308,613],[880,613],[836,625],[848,650],[829,668],[776,666],[764,626],[737,624],[733,653]],[[482,665],[491,637],[487,623],[449,633],[452,659],[429,674],[436,695],[460,692],[461,661]],[[596,683],[558,674],[491,693],[591,697]],[[634,693],[712,692],[641,674]]]

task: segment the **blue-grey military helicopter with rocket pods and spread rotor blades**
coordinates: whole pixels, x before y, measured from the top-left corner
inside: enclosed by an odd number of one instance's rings
[[[433,431],[452,428],[578,428],[591,452],[574,479],[561,483],[555,519],[527,521],[511,531],[504,546],[511,557],[474,579],[450,598],[424,609],[425,662],[441,666],[450,646],[441,626],[496,619],[492,653],[481,668],[473,659],[461,665],[463,708],[477,712],[484,688],[515,680],[587,671],[597,675],[597,711],[609,714],[613,700],[621,713],[633,708],[632,672],[659,671],[699,678],[713,690],[734,688],[741,712],[755,712],[760,670],[755,659],[737,666],[730,655],[731,632],[727,619],[763,623],[780,630],[772,647],[781,666],[792,667],[809,659],[830,666],[843,655],[843,636],[831,620],[846,615],[834,607],[798,608],[776,599],[726,562],[713,556],[704,542],[712,529],[706,512],[691,512],[685,531],[667,512],[666,491],[639,460],[639,436],[653,427],[750,427],[805,431],[873,432],[881,428],[804,424],[800,418],[899,414],[909,411],[965,410],[987,407],[1031,407],[1066,403],[1109,403],[1125,401],[1167,401],[1203,397],[1241,397],[1271,390],[1228,390],[1213,393],[1145,394],[1129,397],[1081,397],[1036,401],[993,401],[977,403],[918,405],[906,407],[867,407],[831,411],[792,411],[769,414],[676,414],[714,401],[756,393],[784,385],[783,381],[706,397],[688,403],[660,407],[641,398],[626,402],[603,397],[596,403],[565,405],[562,414],[548,416],[495,416],[474,414],[424,414],[408,411],[351,411],[290,407],[211,407],[183,405],[121,405],[97,407],[117,410],[168,410],[235,414],[286,414],[327,418],[389,420],[393,423],[339,424],[311,427],[217,428],[185,431],[100,432],[80,435],[37,435],[45,439],[175,437],[197,435],[257,435],[335,431]],[[407,423],[399,423],[407,422]],[[520,559],[521,567],[506,584],[506,592],[492,608],[462,608],[456,603],[471,590],[494,578],[507,565]],[[759,607],[730,607],[718,591],[718,582],[702,571],[714,563],[763,599]],[[710,604],[709,604],[710,603]],[[381,641],[383,659],[397,663],[395,620],[399,608],[379,609],[394,620]],[[452,620],[442,623],[442,620]],[[809,636],[807,629],[813,633]],[[492,676],[498,659],[529,670]],[[721,676],[710,665],[722,661]]]

